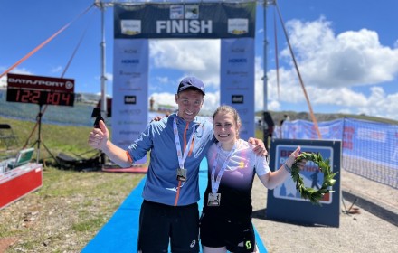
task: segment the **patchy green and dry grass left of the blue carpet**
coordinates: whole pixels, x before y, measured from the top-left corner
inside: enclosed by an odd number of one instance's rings
[[[0,117],[18,136],[18,145],[5,150],[12,155],[27,143],[33,145],[37,129],[34,122]],[[42,125],[43,143],[53,155],[84,154],[90,127]],[[89,153],[90,155],[90,153]],[[101,227],[110,219],[128,194],[144,177],[133,173],[84,173],[60,170],[52,166],[51,155],[42,147],[43,186],[0,210],[0,245],[14,240],[5,252],[81,252]],[[0,252],[2,248],[0,246]]]

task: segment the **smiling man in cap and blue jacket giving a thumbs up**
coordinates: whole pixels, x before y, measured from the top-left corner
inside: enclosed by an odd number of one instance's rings
[[[172,252],[199,252],[199,165],[215,140],[211,121],[197,116],[204,95],[202,80],[181,80],[175,95],[178,110],[150,123],[127,151],[109,141],[103,121],[90,132],[89,144],[122,167],[151,151],[142,192],[138,251],[167,252],[170,242]],[[254,152],[265,155],[261,140],[254,142]]]

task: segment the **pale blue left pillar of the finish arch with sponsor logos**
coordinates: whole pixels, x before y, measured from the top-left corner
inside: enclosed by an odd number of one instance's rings
[[[125,149],[147,126],[148,55],[148,40],[114,42],[112,142]]]

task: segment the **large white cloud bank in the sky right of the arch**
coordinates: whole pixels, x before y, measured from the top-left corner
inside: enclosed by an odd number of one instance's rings
[[[293,20],[287,26],[311,104],[398,119],[398,93],[386,94],[383,87],[384,82],[396,80],[396,46],[383,46],[378,34],[366,29],[335,35],[324,18],[307,23]],[[282,50],[280,59],[280,98],[276,70],[269,70],[269,105],[304,102],[289,48]]]

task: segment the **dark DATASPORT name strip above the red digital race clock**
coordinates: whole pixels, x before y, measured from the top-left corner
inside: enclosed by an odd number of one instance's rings
[[[57,90],[73,93],[74,80],[8,73],[7,88]]]

